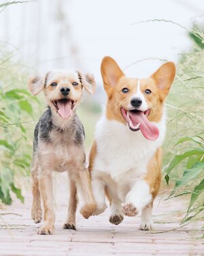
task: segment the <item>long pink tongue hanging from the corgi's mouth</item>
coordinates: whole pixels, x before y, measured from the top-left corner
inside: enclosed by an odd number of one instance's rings
[[[146,137],[146,139],[149,139],[150,141],[155,141],[158,138],[158,128],[155,124],[148,121],[146,115],[142,111],[136,113],[129,111],[129,117],[134,126],[140,123],[139,129],[141,130],[143,137]]]

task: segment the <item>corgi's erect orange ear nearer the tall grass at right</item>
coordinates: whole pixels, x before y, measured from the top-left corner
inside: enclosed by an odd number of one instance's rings
[[[175,64],[173,62],[165,63],[151,77],[156,82],[159,92],[164,99],[169,94],[169,89],[175,78]]]

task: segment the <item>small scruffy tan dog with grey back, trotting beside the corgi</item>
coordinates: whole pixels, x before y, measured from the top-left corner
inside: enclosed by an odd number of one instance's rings
[[[88,218],[88,212],[96,206],[90,175],[85,167],[84,127],[75,114],[83,87],[92,94],[95,79],[76,70],[52,70],[44,77],[35,76],[29,80],[31,93],[36,95],[43,90],[48,103],[48,108],[35,126],[31,164],[31,216],[35,223],[41,222],[41,199],[44,204],[44,225],[37,232],[41,235],[54,233],[53,171],[68,171],[69,175],[69,208],[63,229],[75,229],[78,191],[84,197],[84,206],[80,210],[84,218]]]

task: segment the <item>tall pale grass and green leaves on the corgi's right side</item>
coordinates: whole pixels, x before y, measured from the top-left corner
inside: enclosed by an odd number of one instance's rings
[[[169,95],[164,147],[165,180],[174,184],[169,198],[190,195],[182,223],[204,219],[204,35],[194,28],[190,38],[193,49],[182,54]]]

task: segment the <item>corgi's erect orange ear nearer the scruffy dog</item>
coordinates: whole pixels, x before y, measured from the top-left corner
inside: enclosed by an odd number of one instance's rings
[[[114,87],[120,77],[124,76],[124,73],[114,59],[106,56],[101,62],[101,75],[103,78],[104,88],[107,90],[109,87]]]

